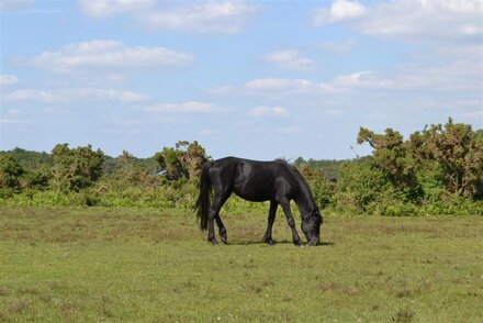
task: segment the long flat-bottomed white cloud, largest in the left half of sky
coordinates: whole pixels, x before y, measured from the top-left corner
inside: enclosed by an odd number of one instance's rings
[[[193,62],[193,55],[165,47],[127,47],[115,41],[71,44],[57,52],[44,52],[26,64],[58,73],[74,70],[179,68]]]

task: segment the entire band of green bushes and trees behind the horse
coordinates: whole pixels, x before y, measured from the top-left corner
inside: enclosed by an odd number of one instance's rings
[[[305,160],[295,167],[325,212],[381,215],[483,214],[483,131],[453,123],[430,125],[404,138],[361,127],[358,144],[371,156]],[[50,153],[0,152],[0,203],[190,209],[202,165],[198,142],[179,142],[150,158],[128,152],[113,158],[90,145],[56,145]],[[226,209],[266,205],[229,199]]]

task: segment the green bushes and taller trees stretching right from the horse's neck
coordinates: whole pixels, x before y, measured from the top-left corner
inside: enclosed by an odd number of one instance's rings
[[[357,142],[368,143],[372,156],[342,163],[335,185],[302,167],[322,205],[383,215],[483,214],[482,130],[449,119],[407,140],[392,129],[361,127]]]

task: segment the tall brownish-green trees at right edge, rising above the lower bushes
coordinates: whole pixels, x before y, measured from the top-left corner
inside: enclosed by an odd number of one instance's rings
[[[384,134],[361,127],[358,143],[374,148],[374,164],[392,185],[414,200],[442,185],[446,192],[474,199],[483,194],[483,131],[470,124],[433,124],[409,140],[392,129]],[[407,194],[409,193],[409,194]]]

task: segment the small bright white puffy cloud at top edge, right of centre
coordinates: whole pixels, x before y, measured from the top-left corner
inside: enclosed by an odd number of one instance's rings
[[[366,14],[367,9],[358,1],[336,0],[330,8],[319,9],[314,16],[314,24],[317,26],[348,21],[361,18]]]

